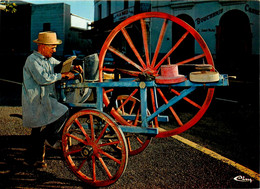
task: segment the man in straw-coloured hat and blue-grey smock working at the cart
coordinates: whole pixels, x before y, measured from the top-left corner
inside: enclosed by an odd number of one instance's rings
[[[23,68],[23,125],[32,128],[26,162],[36,167],[46,167],[44,144],[47,141],[54,145],[60,139],[68,116],[68,108],[56,98],[55,82],[62,78],[73,79],[74,74],[54,73],[54,67],[60,61],[52,54],[62,43],[55,32],[41,32],[33,42],[38,44],[38,51],[27,58]]]

